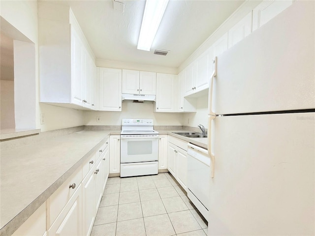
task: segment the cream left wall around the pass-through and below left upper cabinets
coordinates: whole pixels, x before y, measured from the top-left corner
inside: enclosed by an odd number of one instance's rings
[[[1,0],[0,15],[13,27],[23,33],[35,46],[35,123],[36,128],[48,131],[60,128],[84,125],[83,112],[39,104],[38,86],[38,24],[37,1]],[[47,114],[45,123],[40,124],[40,114]]]

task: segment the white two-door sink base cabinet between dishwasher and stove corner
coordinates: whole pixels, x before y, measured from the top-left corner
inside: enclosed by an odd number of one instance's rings
[[[167,169],[187,191],[187,146],[188,143],[168,137]]]

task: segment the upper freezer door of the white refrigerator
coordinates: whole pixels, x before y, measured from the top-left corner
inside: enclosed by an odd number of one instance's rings
[[[314,8],[296,1],[218,56],[217,115],[315,108]]]

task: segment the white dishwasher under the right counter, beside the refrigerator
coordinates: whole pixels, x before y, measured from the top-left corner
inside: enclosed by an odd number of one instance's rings
[[[208,221],[211,178],[208,150],[188,144],[187,166],[187,196]]]

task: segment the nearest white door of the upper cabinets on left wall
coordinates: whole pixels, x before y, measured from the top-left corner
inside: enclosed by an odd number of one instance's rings
[[[74,28],[71,28],[71,102],[83,106],[83,45]]]

